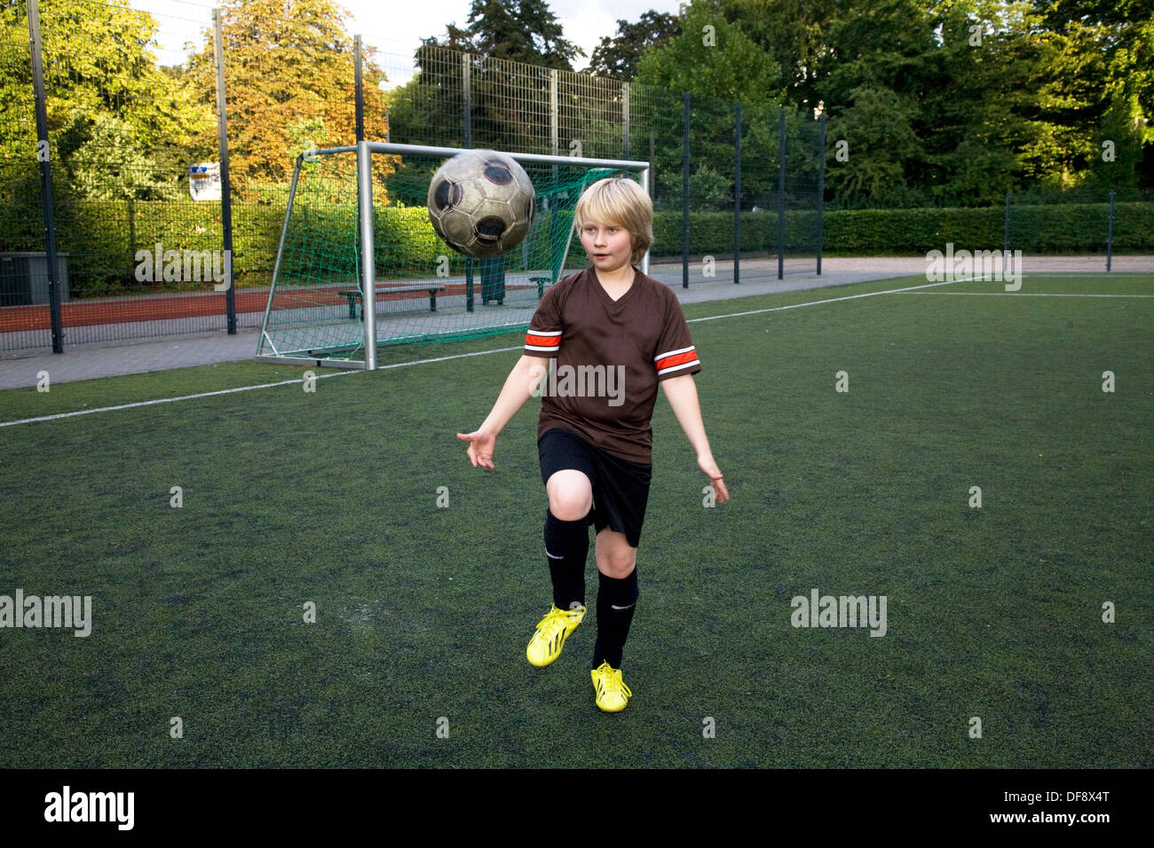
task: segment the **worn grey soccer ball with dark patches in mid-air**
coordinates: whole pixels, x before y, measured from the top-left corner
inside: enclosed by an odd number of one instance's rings
[[[520,243],[533,223],[533,183],[494,150],[469,150],[444,163],[429,183],[429,219],[449,247],[466,256],[499,256]]]

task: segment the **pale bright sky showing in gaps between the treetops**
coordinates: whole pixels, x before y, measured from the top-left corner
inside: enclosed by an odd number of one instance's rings
[[[133,8],[149,12],[160,24],[158,59],[162,65],[183,61],[186,40],[200,43],[201,30],[211,22],[213,3],[204,0],[129,0]],[[421,38],[443,36],[445,24],[464,27],[470,0],[338,0],[350,14],[349,32],[360,33],[379,51],[377,62],[389,76],[389,87],[403,85],[412,76],[411,57]],[[549,0],[549,8],[564,29],[564,37],[585,51],[574,61],[580,70],[601,36],[617,31],[617,18],[634,22],[643,12],[676,13],[677,0]]]

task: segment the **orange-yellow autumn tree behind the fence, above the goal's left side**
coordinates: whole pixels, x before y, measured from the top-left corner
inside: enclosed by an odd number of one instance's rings
[[[226,0],[220,7],[227,95],[230,178],[241,196],[284,183],[309,148],[357,141],[354,42],[330,0]],[[212,33],[188,76],[215,98]],[[362,46],[365,137],[384,141],[384,72]]]

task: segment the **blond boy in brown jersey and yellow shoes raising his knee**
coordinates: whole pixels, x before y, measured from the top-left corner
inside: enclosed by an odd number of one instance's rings
[[[649,501],[650,420],[659,383],[717,502],[728,501],[729,493],[702,425],[692,378],[702,366],[681,305],[666,285],[634,267],[653,242],[649,196],[632,180],[599,180],[577,201],[574,216],[591,267],[545,293],[529,324],[525,354],[493,411],[480,428],[457,438],[470,443],[474,467],[493,468],[496,435],[546,376],[541,359],[556,360],[557,381],[548,393],[542,391],[537,440],[549,500],[545,554],[553,606],[538,623],[526,656],[533,666],[549,665],[585,617],[592,523],[600,584],[591,675],[597,706],[620,712],[632,697],[621,678],[621,661],[638,596],[637,546]],[[615,376],[620,391],[612,388]],[[597,377],[602,377],[599,383]]]

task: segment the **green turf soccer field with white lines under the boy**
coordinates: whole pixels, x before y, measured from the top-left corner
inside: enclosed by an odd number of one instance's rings
[[[592,615],[525,661],[550,596],[540,402],[494,472],[454,435],[517,350],[0,427],[0,594],[92,599],[87,638],[0,629],[0,764],[1154,766],[1154,275],[815,303],[924,284],[684,307],[732,500],[703,506],[659,398],[619,715],[593,705]],[[13,390],[0,421],[301,372]],[[884,595],[885,636],[794,628],[814,588]]]

